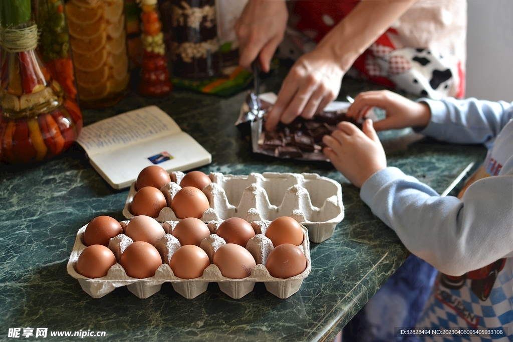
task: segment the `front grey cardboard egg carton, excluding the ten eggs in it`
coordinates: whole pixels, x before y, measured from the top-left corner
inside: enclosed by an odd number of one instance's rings
[[[291,217],[297,220],[300,216],[293,214]],[[67,265],[67,271],[73,278],[78,280],[82,289],[94,298],[101,298],[114,291],[115,288],[122,286],[126,286],[130,292],[139,298],[148,298],[159,292],[164,283],[171,283],[177,293],[188,299],[199,296],[205,292],[208,284],[212,282],[218,283],[221,291],[235,299],[242,298],[251,292],[255,283],[264,283],[267,291],[279,298],[287,298],[298,292],[303,283],[303,279],[308,276],[311,270],[310,244],[306,228],[302,226],[303,243],[299,246],[306,257],[306,269],[299,275],[281,279],[272,277],[265,267],[267,256],[273,249],[271,240],[265,236],[265,231],[270,221],[263,220],[255,210],[249,211],[246,220],[251,223],[255,231],[255,236],[249,240],[246,249],[255,259],[257,266],[252,270],[250,276],[243,279],[224,277],[219,268],[212,264],[213,254],[219,247],[225,244],[224,239],[215,234],[222,221],[210,222],[207,225],[211,235],[203,240],[201,248],[207,253],[211,264],[199,278],[181,279],[176,277],[169,267],[171,256],[181,247],[178,239],[171,234],[178,223],[177,221],[162,223],[166,234],[157,240],[154,246],[161,254],[163,264],[156,270],[155,275],[150,278],[132,278],[126,274],[123,267],[119,264],[121,254],[125,248],[132,243],[132,239],[125,234],[119,234],[110,240],[109,248],[116,256],[117,263],[109,269],[106,276],[91,279],[78,274],[76,272],[76,261],[80,253],[86,248],[83,243],[83,235],[87,225],[78,230],[76,234],[75,244]],[[123,230],[125,230],[128,222],[129,221],[121,222]]]

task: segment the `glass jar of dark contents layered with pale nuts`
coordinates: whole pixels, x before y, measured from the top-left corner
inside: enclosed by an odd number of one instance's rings
[[[173,76],[201,79],[221,70],[215,0],[173,0]]]

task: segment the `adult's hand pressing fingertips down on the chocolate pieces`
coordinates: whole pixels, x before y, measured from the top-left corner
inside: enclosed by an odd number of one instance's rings
[[[278,99],[267,115],[265,129],[296,117],[311,118],[334,100],[340,91],[344,71],[331,49],[320,48],[301,56],[283,81]]]

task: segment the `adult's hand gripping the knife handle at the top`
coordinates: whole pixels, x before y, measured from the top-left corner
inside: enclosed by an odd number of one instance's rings
[[[287,19],[284,0],[249,0],[235,23],[235,33],[239,38],[239,65],[249,69],[260,54],[262,70],[269,72],[274,51],[283,40]]]

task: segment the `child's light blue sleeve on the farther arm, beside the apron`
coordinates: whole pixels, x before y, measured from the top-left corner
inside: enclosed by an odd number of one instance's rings
[[[458,144],[485,144],[488,148],[513,117],[513,103],[468,98],[431,100],[421,98],[431,109],[428,126],[417,132]]]

